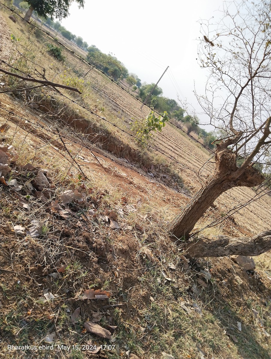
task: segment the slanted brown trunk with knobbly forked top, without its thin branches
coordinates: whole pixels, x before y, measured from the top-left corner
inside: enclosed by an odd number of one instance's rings
[[[262,183],[264,177],[253,167],[242,172],[236,165],[235,154],[230,149],[216,150],[216,168],[209,180],[189,202],[186,208],[176,216],[168,226],[174,237],[188,238],[198,220],[223,192],[237,186],[254,187]]]

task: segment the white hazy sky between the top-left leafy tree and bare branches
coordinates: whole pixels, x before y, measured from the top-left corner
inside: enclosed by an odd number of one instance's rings
[[[70,16],[62,20],[62,25],[89,45],[112,52],[142,82],[156,83],[169,65],[158,85],[163,95],[177,100],[178,93],[200,112],[193,94],[194,83],[203,93],[207,73],[196,60],[198,43],[202,41],[198,20],[221,17],[218,9],[222,9],[222,3],[86,0],[84,9],[78,9],[76,3],[71,5]]]

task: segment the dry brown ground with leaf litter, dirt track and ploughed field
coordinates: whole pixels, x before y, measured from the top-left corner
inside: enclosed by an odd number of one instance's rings
[[[21,20],[14,24],[8,15],[0,14],[5,61],[14,54],[10,34],[27,33]],[[39,51],[41,43],[35,42]],[[64,54],[66,68],[79,77],[87,73],[81,60],[67,50]],[[37,58],[48,64],[50,75],[63,71],[46,52]],[[84,80],[99,96],[93,102],[101,103],[91,103],[92,110],[105,107],[102,115],[121,129],[127,130],[131,118],[148,114],[148,108],[140,110],[139,101],[95,70]],[[5,180],[16,179],[21,186],[0,184],[1,358],[271,358],[270,256],[256,258],[251,271],[230,258],[193,260],[165,230],[212,170],[207,150],[170,126],[155,136],[152,145],[161,158],[161,152],[173,158],[190,192],[174,189],[171,180],[165,184],[168,175],[153,152],[145,153],[149,163],[141,165],[136,146],[126,139],[131,146],[127,158],[117,155],[125,153],[120,150],[125,138],[114,126],[108,141],[82,141],[98,127],[88,133],[86,117],[74,116],[78,107],[72,108],[68,123],[64,111],[58,117],[45,111],[46,101],[35,107],[19,93],[0,96],[0,123],[10,126],[1,133],[0,146],[8,153],[2,157],[12,168]],[[104,122],[99,125],[106,137]],[[46,182],[42,190],[41,177]],[[66,202],[67,190],[72,196],[78,191],[76,199]],[[199,227],[216,219],[221,223],[210,229],[216,234],[269,229],[267,196],[223,220],[229,209],[253,196],[248,188],[228,191]],[[84,293],[89,289],[106,290],[110,297],[88,299]],[[87,332],[87,321],[107,328],[108,339]],[[94,344],[104,347],[98,353],[83,347]]]

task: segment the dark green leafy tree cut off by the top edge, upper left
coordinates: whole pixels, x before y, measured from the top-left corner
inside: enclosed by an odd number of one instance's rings
[[[84,0],[75,0],[78,4],[79,8],[84,7]],[[33,11],[47,19],[50,17],[53,19],[54,17],[61,20],[66,18],[69,15],[69,6],[71,5],[71,0],[26,0],[29,4],[29,8],[24,16],[24,20],[29,21]]]

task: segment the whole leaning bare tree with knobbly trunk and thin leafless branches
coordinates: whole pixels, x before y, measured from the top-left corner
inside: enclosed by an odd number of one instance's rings
[[[198,53],[210,75],[205,95],[197,99],[210,123],[227,136],[216,141],[216,166],[207,182],[168,227],[177,238],[188,237],[223,192],[265,180],[257,163],[265,169],[271,145],[270,13],[270,1],[234,1],[225,4],[220,22],[202,23],[208,42],[201,41]]]

